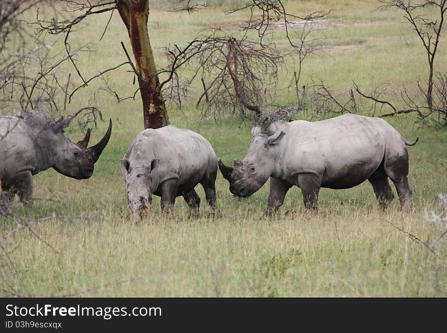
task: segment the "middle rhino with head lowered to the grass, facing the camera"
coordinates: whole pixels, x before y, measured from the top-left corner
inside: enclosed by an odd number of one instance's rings
[[[162,197],[163,212],[183,196],[191,216],[198,216],[200,198],[194,188],[200,183],[213,214],[218,214],[215,181],[217,157],[201,135],[174,126],[140,132],[121,160],[127,199],[135,218],[150,209],[152,194]]]

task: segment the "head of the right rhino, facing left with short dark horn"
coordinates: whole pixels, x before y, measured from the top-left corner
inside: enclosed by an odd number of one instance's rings
[[[219,159],[220,172],[230,182],[231,193],[248,197],[264,185],[275,169],[274,146],[284,135],[283,131],[261,132],[259,127],[253,127],[248,152],[242,160],[234,160],[233,167],[228,167]]]

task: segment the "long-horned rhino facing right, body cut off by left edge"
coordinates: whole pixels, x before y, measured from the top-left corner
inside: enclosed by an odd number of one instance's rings
[[[0,117],[0,179],[3,195],[0,200],[11,203],[17,193],[20,201],[30,203],[33,196],[33,175],[48,168],[76,179],[92,175],[110,138],[109,129],[101,141],[87,148],[90,129],[83,140],[73,143],[63,132],[72,118],[50,122],[44,114],[30,110],[20,117]]]

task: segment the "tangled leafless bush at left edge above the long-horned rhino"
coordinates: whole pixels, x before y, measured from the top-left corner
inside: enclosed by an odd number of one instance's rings
[[[25,12],[36,10],[36,6],[55,10],[50,0],[0,3],[0,109],[4,110],[3,114],[19,115],[29,109],[38,109],[54,117],[68,112],[75,116],[86,111],[90,116],[91,113],[101,114],[94,101],[81,109],[67,109],[70,75],[61,75],[58,68],[91,50],[84,45],[67,53],[56,52],[54,45],[58,41],[48,43],[36,39],[21,19]],[[2,133],[2,137],[6,134]]]

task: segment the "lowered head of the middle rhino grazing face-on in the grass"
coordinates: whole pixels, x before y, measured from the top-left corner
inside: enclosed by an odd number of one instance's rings
[[[127,200],[136,219],[150,211],[152,202],[153,171],[157,168],[159,159],[147,162],[133,163],[127,159],[121,160],[122,178],[126,183]]]

